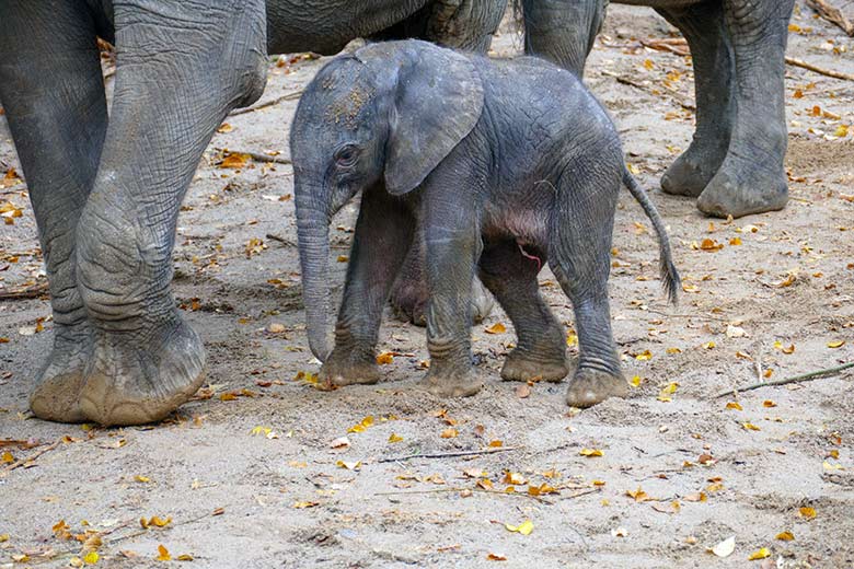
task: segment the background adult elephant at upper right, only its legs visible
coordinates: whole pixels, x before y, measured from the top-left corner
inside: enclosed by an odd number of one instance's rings
[[[604,0],[517,0],[526,47],[574,70],[604,18]],[[788,199],[784,74],[794,0],[619,0],[649,5],[688,39],[696,131],[661,178],[668,194],[699,197],[725,218],[782,209]]]

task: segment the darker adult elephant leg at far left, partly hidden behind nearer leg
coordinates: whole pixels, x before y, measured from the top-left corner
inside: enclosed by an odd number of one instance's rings
[[[42,419],[83,421],[78,396],[92,339],[74,276],[74,231],[107,120],[90,14],[66,1],[4,7],[0,100],[35,211],[54,312],[54,347],[30,405]]]

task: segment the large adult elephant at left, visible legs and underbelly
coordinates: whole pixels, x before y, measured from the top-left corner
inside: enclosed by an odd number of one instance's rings
[[[170,290],[178,208],[214,130],[264,90],[267,53],[407,30],[485,50],[505,0],[3,0],[3,102],[38,224],[54,348],[31,407],[158,420],[205,352]],[[95,37],[116,45],[107,120]],[[468,294],[466,294],[468,298]]]

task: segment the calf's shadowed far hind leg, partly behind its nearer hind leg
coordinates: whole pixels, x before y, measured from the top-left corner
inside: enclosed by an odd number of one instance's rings
[[[536,281],[547,259],[524,256],[513,240],[487,243],[481,255],[481,280],[495,294],[513,323],[517,347],[507,356],[501,378],[507,381],[561,381],[566,365],[564,329],[549,310]]]

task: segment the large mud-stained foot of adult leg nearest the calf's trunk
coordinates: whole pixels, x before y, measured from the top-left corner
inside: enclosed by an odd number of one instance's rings
[[[154,337],[96,333],[80,409],[104,426],[159,421],[201,386],[205,349],[178,314]]]

